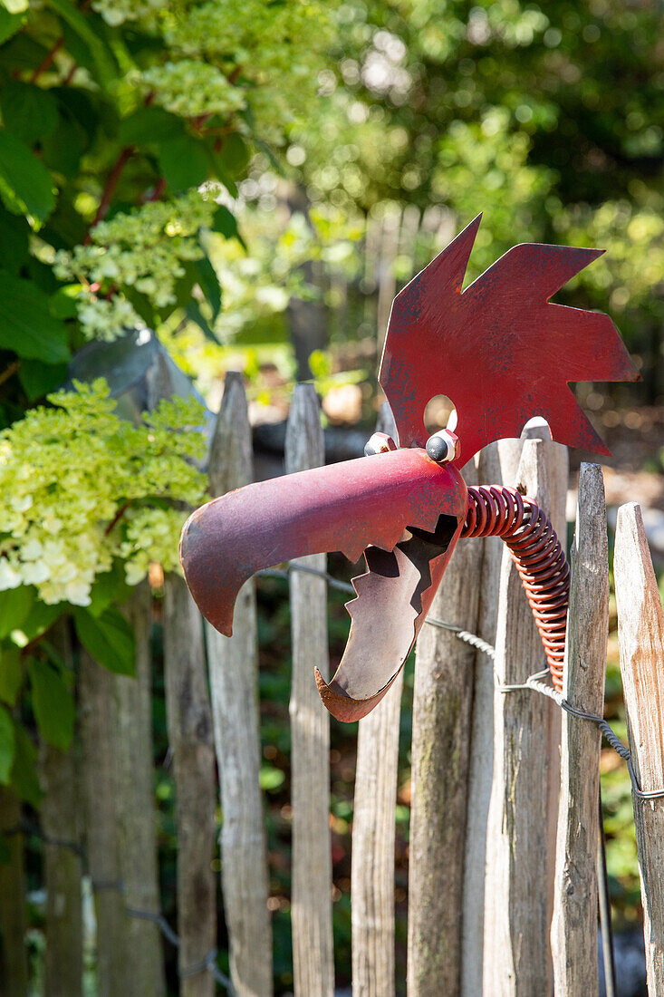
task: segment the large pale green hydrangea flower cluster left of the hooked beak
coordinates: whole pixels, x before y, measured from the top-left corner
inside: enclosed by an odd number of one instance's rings
[[[185,513],[167,502],[203,498],[204,476],[186,459],[202,455],[204,440],[192,432],[196,402],[163,402],[133,426],[105,382],[76,387],[0,434],[0,589],[35,585],[43,602],[86,606],[116,557],[131,584],[150,560],[176,568]]]

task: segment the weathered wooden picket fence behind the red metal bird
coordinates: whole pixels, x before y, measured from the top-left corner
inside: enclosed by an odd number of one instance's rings
[[[389,413],[381,414],[379,428],[390,431]],[[546,435],[544,427],[529,431],[530,438],[526,433],[518,441],[501,441],[465,474],[469,483],[515,485],[548,512],[564,538],[567,454],[550,438],[535,438]],[[287,473],[324,460],[311,386],[295,390],[285,460]],[[229,374],[211,446],[210,492],[221,495],[251,479],[242,380]],[[581,467],[570,556],[564,695],[574,707],[601,716],[608,555],[596,465]],[[296,997],[333,997],[330,718],[313,680],[314,665],[329,677],[327,591],[324,577],[301,566],[324,573],[326,556],[304,558],[289,573],[293,990]],[[632,766],[642,791],[633,801],[649,993],[664,997],[664,800],[647,797],[664,787],[664,613],[635,504],[623,505],[618,514],[614,576]],[[137,591],[128,613],[137,629],[137,677],[111,675],[85,654],[81,661],[80,771],[73,753],[42,752],[47,997],[82,992],[82,861],[75,848],[62,846],[82,838],[97,914],[97,993],[166,992],[163,936],[174,936],[159,914],[147,586]],[[464,642],[437,625],[441,621],[477,635],[495,648],[495,657],[479,650],[477,641]],[[67,633],[58,639],[61,653],[71,656]],[[240,592],[233,636],[226,639],[203,625],[181,579],[167,577],[164,648],[176,800],[179,992],[211,997],[225,986],[235,997],[270,997],[254,581]],[[416,653],[410,997],[598,994],[600,732],[523,688],[542,666],[539,637],[501,541],[462,541]],[[401,696],[400,678],[359,724],[351,881],[354,997],[404,992],[404,981],[395,979],[394,890]],[[214,960],[217,798],[229,981]],[[5,828],[15,827],[17,819],[2,812]],[[10,840],[13,861],[0,866],[0,993],[14,997],[26,992],[20,983],[24,970],[11,958],[12,944],[21,940],[16,911],[25,886],[20,835]]]

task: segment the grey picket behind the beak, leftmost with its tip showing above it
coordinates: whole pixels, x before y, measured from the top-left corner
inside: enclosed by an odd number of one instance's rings
[[[251,428],[241,375],[226,374],[214,430],[209,480],[213,496],[252,478]],[[235,603],[233,635],[205,625],[216,761],[221,785],[221,884],[236,997],[270,997],[272,929],[267,857],[258,783],[258,660],[253,581]]]

